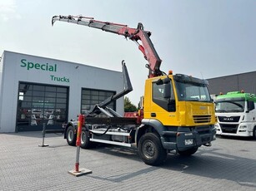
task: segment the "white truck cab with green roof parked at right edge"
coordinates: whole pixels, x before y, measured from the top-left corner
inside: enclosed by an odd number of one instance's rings
[[[232,91],[217,96],[215,124],[217,135],[254,137],[256,139],[256,96]]]

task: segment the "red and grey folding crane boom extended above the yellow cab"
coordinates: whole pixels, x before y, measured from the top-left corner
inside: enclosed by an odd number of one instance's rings
[[[137,28],[131,28],[123,24],[97,21],[94,20],[93,17],[71,15],[54,16],[52,18],[52,25],[56,21],[71,22],[78,25],[98,28],[105,32],[112,32],[129,38],[130,40],[138,44],[138,49],[143,52],[144,58],[148,61],[148,65],[146,65],[149,70],[148,78],[163,76],[163,71],[160,71],[162,60],[158,56],[158,53],[153,47],[153,43],[150,40],[151,32],[144,31],[142,23],[139,22]],[[138,41],[141,41],[142,44],[140,44]]]

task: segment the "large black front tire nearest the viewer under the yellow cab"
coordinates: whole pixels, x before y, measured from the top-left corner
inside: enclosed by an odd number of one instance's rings
[[[163,149],[158,135],[144,134],[138,141],[138,154],[145,164],[157,166],[163,164],[167,157],[166,149]]]

